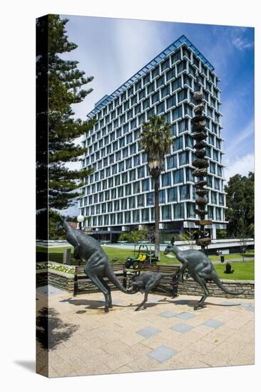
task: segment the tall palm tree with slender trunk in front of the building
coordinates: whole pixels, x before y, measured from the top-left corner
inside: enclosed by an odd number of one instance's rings
[[[143,123],[140,134],[140,145],[148,156],[148,170],[154,180],[155,205],[155,256],[160,259],[160,229],[159,229],[159,184],[160,173],[164,169],[164,157],[170,153],[172,134],[170,125],[165,123],[163,116],[152,115],[147,123]]]

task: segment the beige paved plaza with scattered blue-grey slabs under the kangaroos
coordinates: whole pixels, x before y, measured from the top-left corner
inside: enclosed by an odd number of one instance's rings
[[[147,308],[135,311],[143,294],[116,291],[113,309],[105,313],[102,294],[71,296],[54,287],[37,289],[39,309],[47,293],[49,377],[254,363],[252,299],[209,297],[204,309],[194,311],[198,296],[150,294]],[[39,354],[45,328],[41,309]],[[38,356],[38,371],[45,366]]]

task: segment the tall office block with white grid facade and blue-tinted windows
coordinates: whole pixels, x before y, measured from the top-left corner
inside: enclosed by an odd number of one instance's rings
[[[153,180],[139,144],[143,123],[154,114],[164,115],[173,133],[173,148],[160,176],[161,232],[195,228],[191,118],[197,73],[208,130],[207,218],[213,220],[213,238],[216,229],[225,228],[219,79],[203,54],[181,36],[88,114],[97,123],[85,134],[83,167],[93,167],[93,174],[86,178],[79,208],[90,217],[86,225],[97,236],[113,239],[154,222]]]

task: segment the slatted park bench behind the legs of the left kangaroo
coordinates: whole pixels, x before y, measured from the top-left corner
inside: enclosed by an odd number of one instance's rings
[[[91,279],[86,275],[84,272],[84,267],[85,266],[76,266],[74,270],[74,289],[73,289],[73,296],[76,296],[76,294],[86,294],[86,293],[93,293],[97,292],[97,287],[93,282],[91,282]],[[124,264],[113,264],[113,271],[115,272],[118,280],[121,282],[121,284],[126,283],[123,282],[123,279],[126,279],[123,277],[123,269],[125,268]],[[111,287],[112,290],[116,290],[116,287],[107,280],[107,278],[104,278],[106,282],[108,282],[108,285]]]

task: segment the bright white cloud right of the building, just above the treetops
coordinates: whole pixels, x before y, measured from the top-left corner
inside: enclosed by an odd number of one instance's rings
[[[227,162],[225,167],[225,179],[228,181],[230,177],[236,174],[248,175],[248,172],[255,171],[255,158],[254,154],[247,154],[242,157],[235,156]]]

